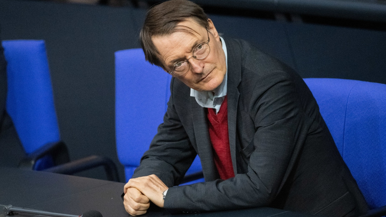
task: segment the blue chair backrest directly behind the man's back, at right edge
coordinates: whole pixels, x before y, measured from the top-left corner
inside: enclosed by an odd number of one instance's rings
[[[370,208],[386,205],[386,84],[304,80]]]

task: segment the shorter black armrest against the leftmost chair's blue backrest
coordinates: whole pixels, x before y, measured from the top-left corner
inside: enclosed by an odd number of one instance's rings
[[[19,167],[33,170],[36,161],[47,154],[50,154],[52,156],[54,165],[66,163],[69,161],[69,155],[66,145],[63,143],[63,141],[58,141],[47,143],[36,151],[27,154],[27,156],[20,161]]]

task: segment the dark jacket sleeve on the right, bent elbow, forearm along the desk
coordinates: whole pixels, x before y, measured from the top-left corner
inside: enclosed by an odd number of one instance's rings
[[[307,118],[293,78],[278,71],[261,78],[246,111],[255,134],[248,146],[248,172],[227,180],[169,188],[164,207],[170,212],[201,212],[269,205],[289,173],[296,146],[306,137]],[[248,149],[248,148],[247,148]]]

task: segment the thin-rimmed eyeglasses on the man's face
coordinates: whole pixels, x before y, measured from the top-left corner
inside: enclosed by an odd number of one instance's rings
[[[188,72],[189,68],[190,68],[190,64],[188,62],[188,60],[190,58],[193,57],[195,59],[201,60],[201,59],[204,59],[205,57],[207,57],[209,55],[209,52],[210,52],[210,47],[209,47],[210,38],[209,38],[208,30],[207,30],[207,34],[208,34],[208,41],[205,42],[205,43],[201,43],[201,44],[197,45],[195,47],[195,49],[193,50],[193,56],[189,57],[188,59],[186,59],[184,61],[177,62],[173,66],[173,69],[170,72],[168,72],[169,74],[173,73],[176,76],[181,76],[183,74],[186,74],[186,72]]]

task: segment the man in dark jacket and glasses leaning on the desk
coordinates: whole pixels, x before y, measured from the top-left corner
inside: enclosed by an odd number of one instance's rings
[[[324,216],[367,210],[300,76],[203,10],[171,0],[149,10],[146,59],[173,76],[164,123],[124,187],[125,209],[171,212],[270,206]],[[205,182],[178,185],[194,157]],[[174,187],[173,187],[174,186]]]

